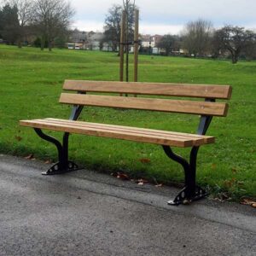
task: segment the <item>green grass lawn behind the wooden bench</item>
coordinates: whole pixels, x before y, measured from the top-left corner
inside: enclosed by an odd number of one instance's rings
[[[212,193],[233,199],[256,196],[256,62],[194,60],[140,56],[139,80],[230,84],[233,96],[227,118],[213,118],[203,146],[197,181]],[[132,66],[131,66],[132,70]],[[113,53],[39,49],[0,45],[0,153],[56,160],[55,147],[40,139],[20,119],[67,118],[70,107],[58,103],[64,79],[118,80],[119,58]],[[199,117],[108,108],[84,108],[81,119],[116,125],[195,132]],[[49,132],[55,137],[60,133]],[[187,149],[177,149],[187,156]],[[101,172],[126,172],[158,183],[183,182],[183,171],[160,146],[102,137],[70,137],[70,159]],[[147,159],[143,161],[143,159]]]

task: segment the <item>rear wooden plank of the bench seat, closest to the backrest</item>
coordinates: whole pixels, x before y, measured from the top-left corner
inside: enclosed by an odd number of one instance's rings
[[[55,123],[69,123],[73,124],[73,120],[67,120],[67,119],[44,119],[47,121],[55,122]],[[146,128],[139,128],[139,127],[131,127],[131,126],[123,126],[123,125],[108,125],[108,124],[100,124],[100,123],[90,123],[90,122],[84,122],[84,121],[75,121],[76,125],[86,125],[91,127],[103,127],[104,129],[109,130],[115,130],[115,131],[134,131],[139,132],[141,134],[149,134],[149,135],[157,135],[157,136],[163,136],[163,137],[182,137],[182,138],[189,138],[192,140],[203,140],[205,144],[207,143],[214,143],[215,138],[212,136],[206,136],[206,135],[198,135],[198,134],[191,134],[191,133],[183,133],[183,132],[177,132],[177,131],[163,131],[163,130],[155,130],[155,129],[146,129]]]

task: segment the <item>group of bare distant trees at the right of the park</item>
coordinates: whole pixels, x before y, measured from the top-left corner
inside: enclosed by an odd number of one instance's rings
[[[256,33],[241,26],[214,29],[211,21],[195,20],[186,24],[180,36],[165,35],[157,47],[166,49],[166,55],[183,49],[185,55],[195,58],[224,56],[236,63],[241,56],[256,59]]]

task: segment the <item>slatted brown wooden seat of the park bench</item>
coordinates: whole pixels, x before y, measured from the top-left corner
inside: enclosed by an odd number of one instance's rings
[[[96,137],[111,137],[180,148],[214,143],[214,137],[210,136],[175,131],[160,131],[131,126],[97,124],[67,119],[20,120],[20,125],[51,131],[65,131]]]

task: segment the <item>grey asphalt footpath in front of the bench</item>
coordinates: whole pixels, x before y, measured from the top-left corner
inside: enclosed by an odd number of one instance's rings
[[[170,207],[173,188],[138,186],[0,155],[0,256],[256,255],[256,211],[216,201]]]

